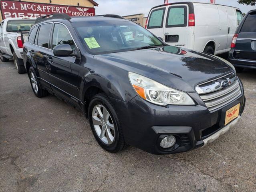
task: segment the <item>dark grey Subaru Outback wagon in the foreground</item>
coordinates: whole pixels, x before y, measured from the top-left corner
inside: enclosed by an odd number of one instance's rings
[[[38,18],[23,48],[34,94],[81,110],[109,152],[185,152],[236,124],[245,97],[232,64],[119,17]]]

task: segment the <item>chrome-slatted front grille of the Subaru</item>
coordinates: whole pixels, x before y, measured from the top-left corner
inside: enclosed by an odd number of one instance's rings
[[[228,81],[227,88],[222,88],[223,81]],[[196,86],[196,91],[210,111],[234,101],[242,93],[237,76],[233,73],[200,84]]]

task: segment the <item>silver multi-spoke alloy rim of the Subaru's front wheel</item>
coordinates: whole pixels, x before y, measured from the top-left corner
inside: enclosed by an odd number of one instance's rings
[[[93,127],[97,136],[105,144],[112,144],[115,140],[115,126],[107,109],[97,104],[92,111]]]

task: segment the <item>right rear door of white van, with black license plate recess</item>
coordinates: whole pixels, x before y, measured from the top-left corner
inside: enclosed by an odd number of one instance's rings
[[[167,44],[189,48],[188,39],[191,38],[191,36],[189,36],[188,32],[187,18],[187,4],[171,5],[167,7],[166,21],[163,30],[163,39]]]

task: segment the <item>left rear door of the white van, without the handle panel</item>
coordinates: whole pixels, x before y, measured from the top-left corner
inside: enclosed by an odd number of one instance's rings
[[[165,7],[153,9],[149,15],[147,29],[157,37],[163,38]]]

